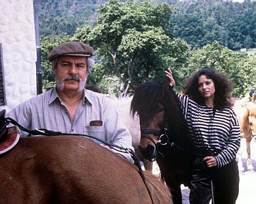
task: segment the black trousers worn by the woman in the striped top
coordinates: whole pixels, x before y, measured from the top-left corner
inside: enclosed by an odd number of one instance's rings
[[[212,199],[212,187],[214,204],[236,203],[239,192],[239,171],[236,159],[219,169],[205,167],[201,158],[195,160],[190,182],[190,204],[209,204]]]

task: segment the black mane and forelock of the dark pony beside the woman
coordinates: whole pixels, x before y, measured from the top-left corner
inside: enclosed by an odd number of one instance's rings
[[[168,87],[168,84],[159,82],[145,82],[137,88],[131,103],[131,112],[143,112],[144,116],[152,117],[158,110],[157,104],[162,103],[165,107],[165,117],[169,122],[170,132],[173,141],[180,144],[188,144],[188,129],[182,109],[175,92]],[[155,112],[154,112],[155,111]],[[190,140],[190,143],[192,141]],[[192,148],[192,147],[190,147]]]

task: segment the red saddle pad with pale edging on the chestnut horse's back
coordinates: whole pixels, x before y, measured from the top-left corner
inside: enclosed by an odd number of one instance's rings
[[[15,126],[8,128],[6,134],[7,135],[5,139],[0,141],[0,154],[12,150],[12,148],[16,146],[16,143],[18,143],[18,140],[20,139],[20,134],[18,133]]]

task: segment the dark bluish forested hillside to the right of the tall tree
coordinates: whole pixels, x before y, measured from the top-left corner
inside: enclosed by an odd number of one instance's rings
[[[173,7],[173,35],[193,47],[214,41],[231,50],[256,47],[255,1],[189,0]]]

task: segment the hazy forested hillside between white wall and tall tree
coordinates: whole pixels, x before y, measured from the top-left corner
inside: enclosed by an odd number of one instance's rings
[[[96,10],[102,1],[44,0],[40,9],[40,35],[74,35],[76,28],[94,24]]]

